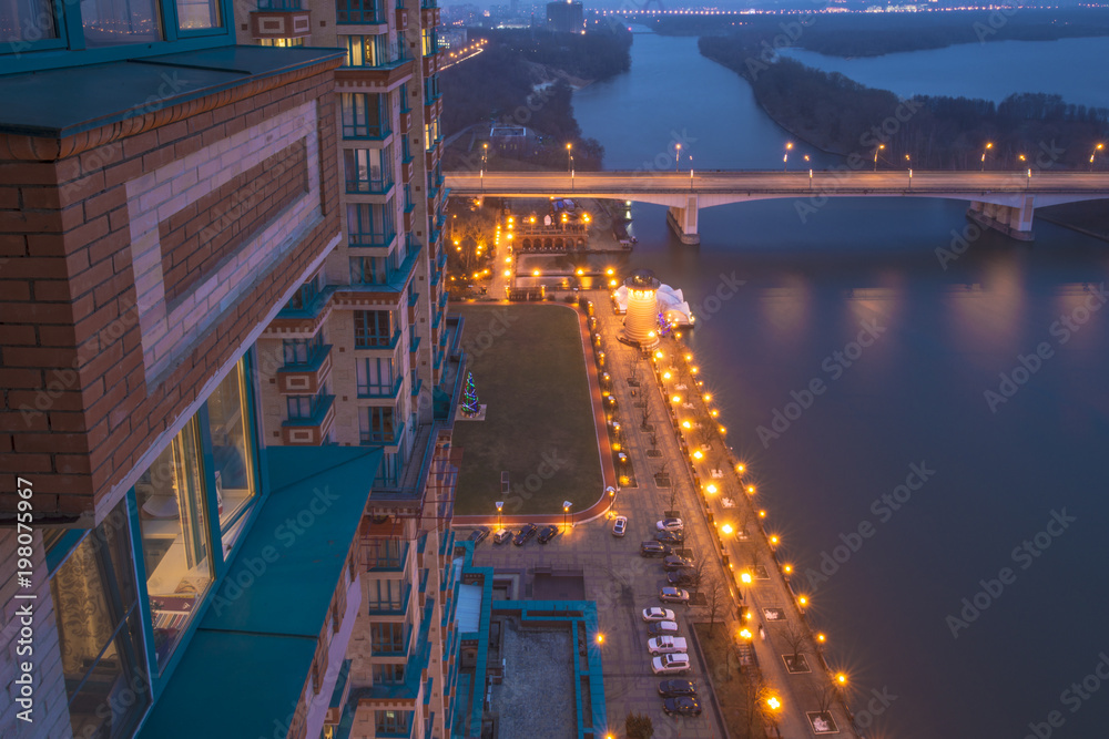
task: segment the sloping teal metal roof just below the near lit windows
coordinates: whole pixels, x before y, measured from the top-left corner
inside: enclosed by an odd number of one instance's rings
[[[268,737],[292,719],[383,452],[279,447],[266,456],[273,491],[140,739]]]

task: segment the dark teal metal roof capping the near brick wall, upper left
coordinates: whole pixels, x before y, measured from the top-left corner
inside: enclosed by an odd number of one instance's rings
[[[0,76],[0,133],[69,136],[342,57],[336,49],[220,47]]]

